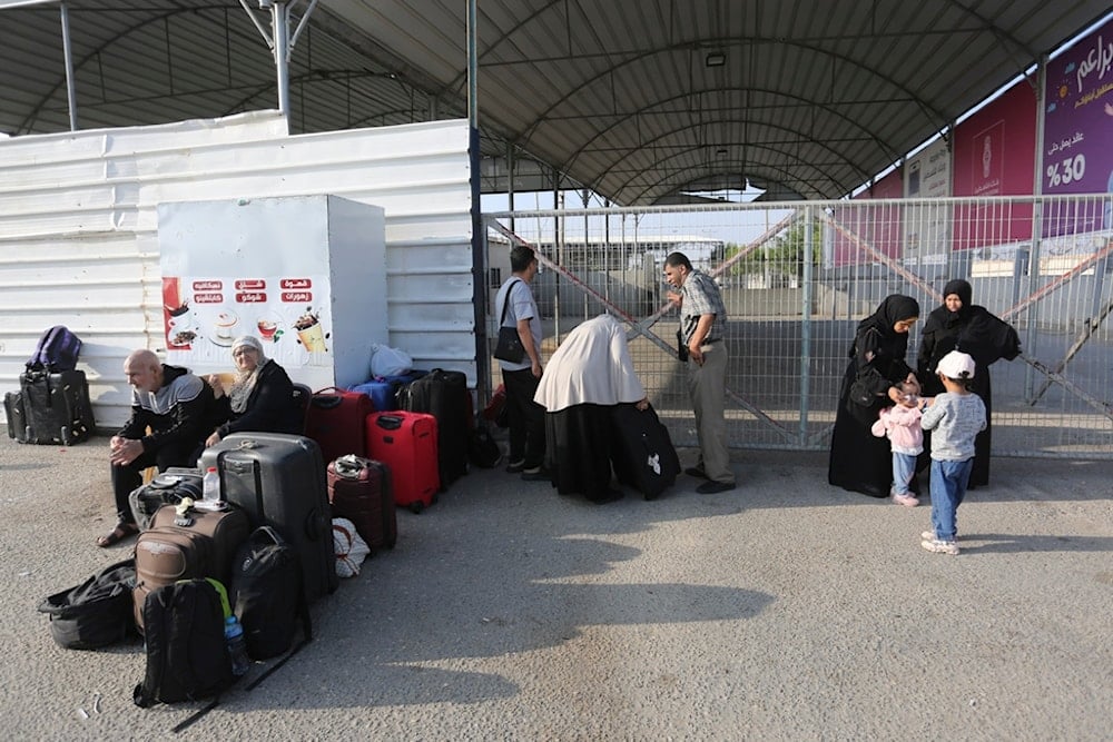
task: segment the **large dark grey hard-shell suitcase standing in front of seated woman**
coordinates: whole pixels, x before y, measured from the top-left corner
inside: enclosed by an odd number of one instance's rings
[[[333,523],[321,448],[311,438],[282,433],[233,433],[201,454],[215,466],[224,498],[247,511],[253,527],[268,525],[302,561],[306,600],[339,584]]]

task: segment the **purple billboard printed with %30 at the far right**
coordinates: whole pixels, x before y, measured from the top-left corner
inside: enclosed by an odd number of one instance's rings
[[[1043,192],[1113,191],[1113,23],[1078,40],[1047,65]],[[1109,229],[1109,202],[1051,204],[1045,235]]]

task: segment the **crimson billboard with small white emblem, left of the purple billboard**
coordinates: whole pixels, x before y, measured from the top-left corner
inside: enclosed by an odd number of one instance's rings
[[[1035,146],[1036,95],[1021,80],[955,128],[954,195],[1031,195]],[[961,206],[953,234],[956,250],[1028,239],[1032,206]]]

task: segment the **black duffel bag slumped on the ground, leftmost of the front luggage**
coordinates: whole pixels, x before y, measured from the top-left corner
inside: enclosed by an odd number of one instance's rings
[[[50,635],[68,650],[96,650],[136,633],[131,591],[136,561],[105,567],[80,585],[47,597],[39,612],[50,616]]]

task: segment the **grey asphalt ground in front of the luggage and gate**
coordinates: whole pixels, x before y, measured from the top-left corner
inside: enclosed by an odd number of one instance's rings
[[[691,461],[691,452],[681,452]],[[136,708],[138,640],[58,647],[48,594],[125,558],[107,438],[0,441],[0,730],[11,740],[1109,740],[1113,463],[994,462],[928,554],[914,509],[743,452],[735,492],[682,476],[597,506],[475,469],[313,610],[258,685]],[[252,669],[248,680],[267,665]],[[95,700],[99,695],[99,703]],[[98,711],[99,709],[99,711]]]

